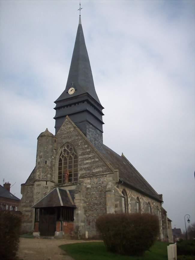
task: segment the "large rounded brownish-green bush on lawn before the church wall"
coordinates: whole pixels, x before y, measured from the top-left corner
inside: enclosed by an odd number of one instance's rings
[[[142,255],[159,234],[158,217],[148,213],[106,214],[96,227],[109,251],[125,255]]]

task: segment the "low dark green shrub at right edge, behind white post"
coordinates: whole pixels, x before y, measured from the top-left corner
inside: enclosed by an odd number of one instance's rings
[[[195,255],[195,240],[180,240],[177,242],[178,255]]]

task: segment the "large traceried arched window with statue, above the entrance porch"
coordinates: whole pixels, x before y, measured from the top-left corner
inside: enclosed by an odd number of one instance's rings
[[[71,144],[65,144],[58,161],[58,183],[78,180],[78,156]]]

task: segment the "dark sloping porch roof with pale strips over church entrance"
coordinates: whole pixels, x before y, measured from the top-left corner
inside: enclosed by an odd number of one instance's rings
[[[32,206],[32,208],[44,207],[73,207],[74,204],[74,190],[64,190],[55,188],[49,192],[45,197]]]

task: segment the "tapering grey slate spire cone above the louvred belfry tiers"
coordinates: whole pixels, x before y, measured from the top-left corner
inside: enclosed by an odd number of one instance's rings
[[[70,95],[67,93],[70,86],[75,89],[72,96],[88,93],[99,104],[101,104],[95,91],[80,16],[66,88],[55,102],[70,98]]]

